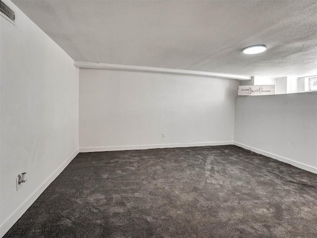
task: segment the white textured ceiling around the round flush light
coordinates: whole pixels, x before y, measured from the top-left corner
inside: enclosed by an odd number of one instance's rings
[[[12,1],[76,61],[317,74],[316,0]],[[268,49],[242,53],[254,44]]]

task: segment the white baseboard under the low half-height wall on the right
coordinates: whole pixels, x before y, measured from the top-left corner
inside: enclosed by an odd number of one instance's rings
[[[253,148],[251,146],[247,146],[247,145],[244,145],[244,144],[240,144],[238,142],[233,142],[234,145],[236,146],[239,146],[239,147],[242,147],[244,149],[247,149],[247,150],[251,150],[253,152],[256,152],[258,154],[261,154],[261,155],[264,155],[264,156],[267,156],[267,157],[270,157],[270,158],[273,158],[275,160],[278,160],[278,161],[281,161],[281,162],[284,162],[286,164],[290,164],[290,165],[293,165],[297,168],[300,168],[302,170],[306,170],[306,171],[309,171],[309,172],[312,172],[314,174],[317,174],[317,168],[315,167],[312,167],[312,166],[309,166],[309,165],[305,165],[305,164],[302,164],[300,162],[296,162],[294,160],[290,160],[290,159],[287,159],[287,158],[284,158],[282,156],[278,156],[278,155],[274,155],[274,154],[271,154],[269,152],[266,152],[266,151],[263,151],[263,150],[259,150],[259,149],[256,149],[256,148]]]

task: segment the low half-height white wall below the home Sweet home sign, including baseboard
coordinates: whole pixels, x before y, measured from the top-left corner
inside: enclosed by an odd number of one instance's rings
[[[237,145],[317,173],[317,92],[237,97]]]

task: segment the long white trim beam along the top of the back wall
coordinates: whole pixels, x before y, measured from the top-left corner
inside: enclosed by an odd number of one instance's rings
[[[130,70],[130,71],[145,71],[145,72],[159,72],[159,73],[174,73],[174,74],[187,74],[187,75],[199,75],[214,78],[231,78],[238,80],[251,80],[251,76],[241,76],[225,73],[212,73],[187,69],[176,68],[161,68],[161,67],[149,67],[127,64],[115,64],[115,63],[97,63],[97,62],[85,62],[74,61],[74,65],[77,68],[102,68],[102,69],[118,69],[118,70]]]

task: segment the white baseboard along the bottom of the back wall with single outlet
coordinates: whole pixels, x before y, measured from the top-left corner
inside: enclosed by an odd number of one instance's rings
[[[158,148],[192,147],[192,146],[209,146],[209,145],[232,145],[232,144],[233,144],[232,141],[220,141],[220,142],[198,142],[198,143],[180,143],[180,144],[85,147],[85,148],[79,148],[79,152],[102,152],[102,151],[115,151],[115,150],[146,150],[146,149],[158,149]]]

